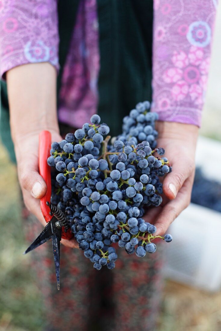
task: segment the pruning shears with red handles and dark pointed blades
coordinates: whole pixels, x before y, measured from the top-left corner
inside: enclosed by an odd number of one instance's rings
[[[73,234],[67,223],[66,215],[56,206],[50,203],[51,200],[51,169],[47,164],[50,156],[51,134],[49,131],[42,131],[39,134],[39,173],[43,177],[47,191],[40,199],[40,207],[47,225],[33,243],[23,254],[27,254],[49,239],[52,240],[54,264],[57,279],[57,288],[60,289],[60,241],[61,239],[71,239]]]

